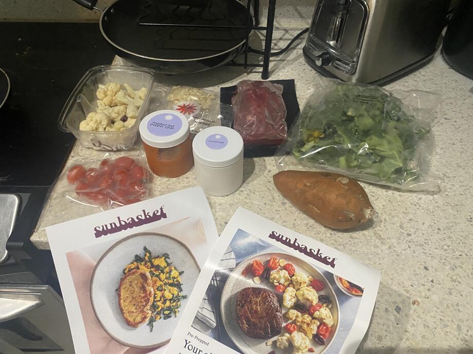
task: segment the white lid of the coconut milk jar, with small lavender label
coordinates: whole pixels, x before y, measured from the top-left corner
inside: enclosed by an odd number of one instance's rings
[[[226,167],[243,158],[241,135],[227,127],[200,131],[192,142],[194,160],[209,167]]]

